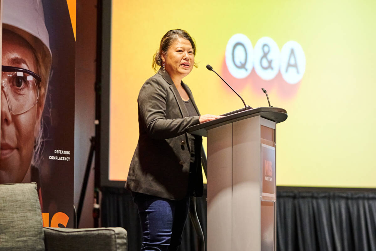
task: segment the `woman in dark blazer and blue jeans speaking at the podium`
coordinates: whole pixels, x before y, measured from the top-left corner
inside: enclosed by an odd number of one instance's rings
[[[185,30],[169,30],[153,59],[158,72],[138,95],[139,138],[126,188],[132,191],[145,250],[177,250],[189,197],[202,196],[202,138],[186,129],[221,116],[200,116],[182,79],[195,65],[196,45]]]

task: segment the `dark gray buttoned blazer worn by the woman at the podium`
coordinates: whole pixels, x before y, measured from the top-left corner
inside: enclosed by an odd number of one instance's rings
[[[199,113],[192,92],[181,83]],[[191,146],[186,129],[199,124],[188,117],[182,98],[168,73],[159,69],[138,95],[139,138],[129,167],[126,188],[166,199],[187,195]],[[194,196],[202,196],[202,138],[195,136]]]

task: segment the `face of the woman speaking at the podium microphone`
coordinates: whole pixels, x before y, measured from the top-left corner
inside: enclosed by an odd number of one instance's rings
[[[193,68],[194,55],[191,42],[185,38],[177,38],[162,55],[165,69],[171,78],[184,78]]]

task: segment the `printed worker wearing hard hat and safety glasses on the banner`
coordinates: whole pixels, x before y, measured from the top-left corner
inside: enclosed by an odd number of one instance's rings
[[[11,2],[4,1],[3,8],[17,8],[17,1]],[[39,183],[52,55],[43,9],[38,12],[33,1],[23,5],[26,16],[3,11],[0,183]]]

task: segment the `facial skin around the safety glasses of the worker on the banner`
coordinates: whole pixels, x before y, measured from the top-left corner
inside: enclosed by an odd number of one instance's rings
[[[3,30],[2,50],[2,65],[37,73],[36,59],[30,44],[16,33]],[[2,88],[0,183],[19,183],[24,180],[32,160],[42,109],[43,106],[37,104],[25,113],[10,113]]]

